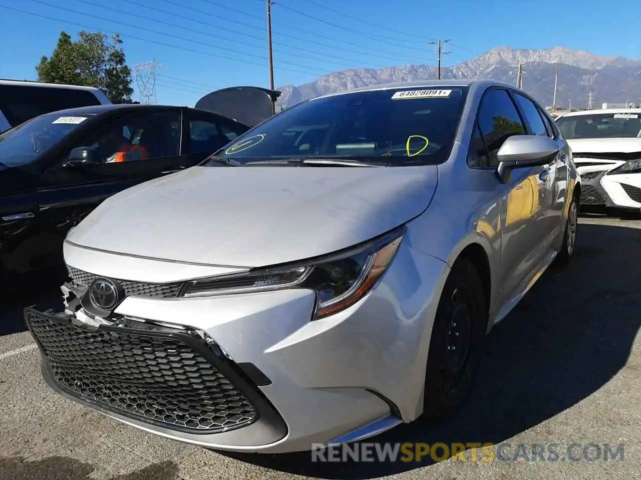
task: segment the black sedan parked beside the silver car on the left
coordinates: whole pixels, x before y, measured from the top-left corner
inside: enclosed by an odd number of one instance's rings
[[[0,271],[62,266],[67,231],[105,198],[196,165],[248,129],[194,108],[97,105],[0,134]]]

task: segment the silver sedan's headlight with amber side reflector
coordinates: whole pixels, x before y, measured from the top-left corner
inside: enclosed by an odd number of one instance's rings
[[[363,298],[383,275],[403,240],[404,227],[328,257],[237,275],[188,282],[181,296],[212,296],[290,288],[316,292],[315,318],[335,314]]]

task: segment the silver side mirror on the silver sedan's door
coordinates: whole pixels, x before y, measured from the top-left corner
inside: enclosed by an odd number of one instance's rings
[[[497,175],[506,182],[510,170],[550,163],[560,148],[556,141],[542,135],[513,135],[508,137],[499,148],[496,156],[499,161]]]

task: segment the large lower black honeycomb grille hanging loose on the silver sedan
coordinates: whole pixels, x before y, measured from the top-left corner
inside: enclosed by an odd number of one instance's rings
[[[74,397],[196,433],[240,428],[258,419],[254,403],[229,380],[234,375],[229,365],[214,366],[213,352],[196,333],[118,326],[90,331],[67,317],[29,309],[25,319],[51,378]]]

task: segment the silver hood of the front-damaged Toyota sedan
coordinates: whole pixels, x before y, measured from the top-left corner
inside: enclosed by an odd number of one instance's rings
[[[68,241],[156,259],[258,267],[367,241],[418,216],[436,166],[192,167],[105,200]]]

